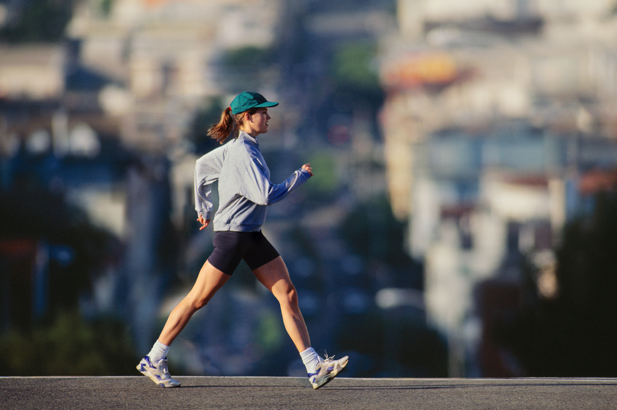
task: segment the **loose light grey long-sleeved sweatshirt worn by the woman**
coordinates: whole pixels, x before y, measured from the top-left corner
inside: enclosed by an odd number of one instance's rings
[[[300,168],[280,184],[270,182],[270,170],[257,139],[240,131],[238,139],[231,139],[197,160],[195,210],[204,219],[211,219],[212,182],[218,179],[214,230],[259,231],[266,219],[266,206],[291,194],[309,178],[309,171]]]

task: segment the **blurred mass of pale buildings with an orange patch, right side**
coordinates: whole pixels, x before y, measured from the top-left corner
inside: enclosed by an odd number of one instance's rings
[[[584,208],[581,178],[617,166],[611,7],[397,2],[381,64],[388,186],[409,252],[426,263],[427,315],[449,338],[451,376],[521,374],[487,339],[486,313],[520,303],[505,295],[523,257],[542,296],[558,292],[552,250]]]

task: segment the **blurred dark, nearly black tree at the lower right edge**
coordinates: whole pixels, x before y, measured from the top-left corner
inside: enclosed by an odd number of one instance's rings
[[[498,338],[530,376],[617,376],[615,192],[598,193],[593,214],[566,226],[557,251],[557,297],[536,297],[500,322]],[[527,293],[537,295],[534,286]]]

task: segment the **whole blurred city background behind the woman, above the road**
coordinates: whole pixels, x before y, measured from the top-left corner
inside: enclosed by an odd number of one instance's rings
[[[136,374],[241,91],[315,170],[263,231],[347,377],[617,376],[614,0],[0,0],[0,375]],[[243,262],[169,359],[305,375]]]

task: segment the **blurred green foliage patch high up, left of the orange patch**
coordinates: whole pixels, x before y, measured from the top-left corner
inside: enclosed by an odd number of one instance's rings
[[[331,72],[341,88],[379,91],[379,78],[374,68],[377,47],[372,43],[347,43],[334,54]]]

